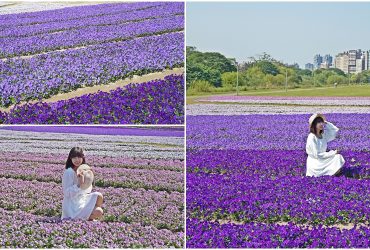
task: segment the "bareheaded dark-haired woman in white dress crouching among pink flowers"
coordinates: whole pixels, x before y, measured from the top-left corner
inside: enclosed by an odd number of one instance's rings
[[[63,174],[63,205],[62,219],[96,220],[103,217],[103,195],[93,192],[92,186],[81,189],[83,175],[77,174],[77,168],[85,164],[85,156],[82,148],[71,149],[66,162],[66,170]]]

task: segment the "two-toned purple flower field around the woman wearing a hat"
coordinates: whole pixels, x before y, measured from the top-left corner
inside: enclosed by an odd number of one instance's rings
[[[187,117],[187,247],[370,246],[370,115],[326,115],[346,176],[319,178],[305,176],[309,117]]]

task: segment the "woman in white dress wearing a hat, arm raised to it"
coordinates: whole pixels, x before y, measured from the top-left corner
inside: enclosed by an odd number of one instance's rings
[[[306,143],[308,154],[306,176],[341,175],[345,162],[343,156],[338,150],[326,152],[327,143],[335,139],[339,129],[326,121],[325,116],[321,114],[313,114],[309,124],[310,134]]]

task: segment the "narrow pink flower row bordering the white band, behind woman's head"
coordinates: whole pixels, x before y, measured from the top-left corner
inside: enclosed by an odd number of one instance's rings
[[[46,163],[65,165],[65,154],[54,153],[23,153],[23,152],[1,152],[0,162],[22,162],[22,164]],[[172,170],[183,172],[184,162],[176,159],[145,159],[145,158],[125,158],[108,157],[99,155],[88,155],[87,163],[94,167],[109,168],[134,168],[134,169],[154,169],[154,170]]]

